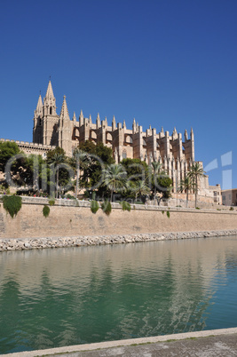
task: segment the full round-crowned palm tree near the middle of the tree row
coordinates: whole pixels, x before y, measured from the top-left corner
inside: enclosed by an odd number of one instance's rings
[[[112,202],[114,192],[125,189],[127,173],[121,164],[112,163],[103,170],[103,175],[105,186],[111,190],[110,202]]]

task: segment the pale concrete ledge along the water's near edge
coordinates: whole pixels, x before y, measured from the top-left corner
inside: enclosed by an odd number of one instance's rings
[[[66,347],[51,348],[46,350],[26,351],[20,353],[8,353],[3,355],[6,355],[8,357],[35,357],[35,356],[45,356],[45,355],[58,354],[58,353],[76,353],[76,352],[83,352],[83,351],[93,351],[97,349],[113,348],[119,346],[155,344],[159,342],[169,342],[170,340],[174,341],[174,340],[183,340],[188,338],[225,336],[231,334],[237,334],[237,328],[209,329],[205,331],[186,332],[186,333],[178,333],[173,335],[99,342],[96,344],[69,345]]]

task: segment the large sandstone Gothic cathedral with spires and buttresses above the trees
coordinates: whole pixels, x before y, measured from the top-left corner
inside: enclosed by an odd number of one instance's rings
[[[51,81],[48,84],[46,95],[42,100],[39,96],[34,115],[33,142],[38,145],[62,147],[66,154],[71,156],[75,147],[85,140],[94,143],[102,142],[111,147],[116,163],[123,158],[138,158],[152,163],[159,161],[163,169],[173,180],[174,191],[180,179],[185,178],[189,167],[194,163],[194,131],[191,129],[188,138],[185,131],[182,134],[176,128],[170,135],[169,131],[156,132],[156,129],[146,129],[133,120],[132,129],[127,129],[125,121],[116,123],[113,117],[111,126],[107,118],[100,120],[99,114],[96,123],[89,118],[79,115],[77,121],[75,113],[72,120],[67,110],[66,97],[63,99],[60,115],[56,112],[56,99],[54,97]]]

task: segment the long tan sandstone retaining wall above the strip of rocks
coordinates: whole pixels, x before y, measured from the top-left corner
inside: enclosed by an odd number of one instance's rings
[[[164,210],[164,213],[162,213]],[[236,211],[170,209],[132,206],[122,211],[119,204],[109,217],[102,210],[91,213],[90,207],[51,206],[50,216],[43,217],[41,202],[23,203],[15,218],[0,207],[0,238],[70,237],[76,235],[142,234],[237,229]]]

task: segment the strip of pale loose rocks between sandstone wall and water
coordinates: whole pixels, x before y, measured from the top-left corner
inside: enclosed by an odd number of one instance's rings
[[[123,234],[77,237],[50,237],[30,239],[0,239],[0,251],[36,250],[43,248],[81,247],[90,245],[120,244],[134,242],[169,241],[188,238],[207,238],[237,234],[237,229],[223,231],[178,232],[156,234]]]

